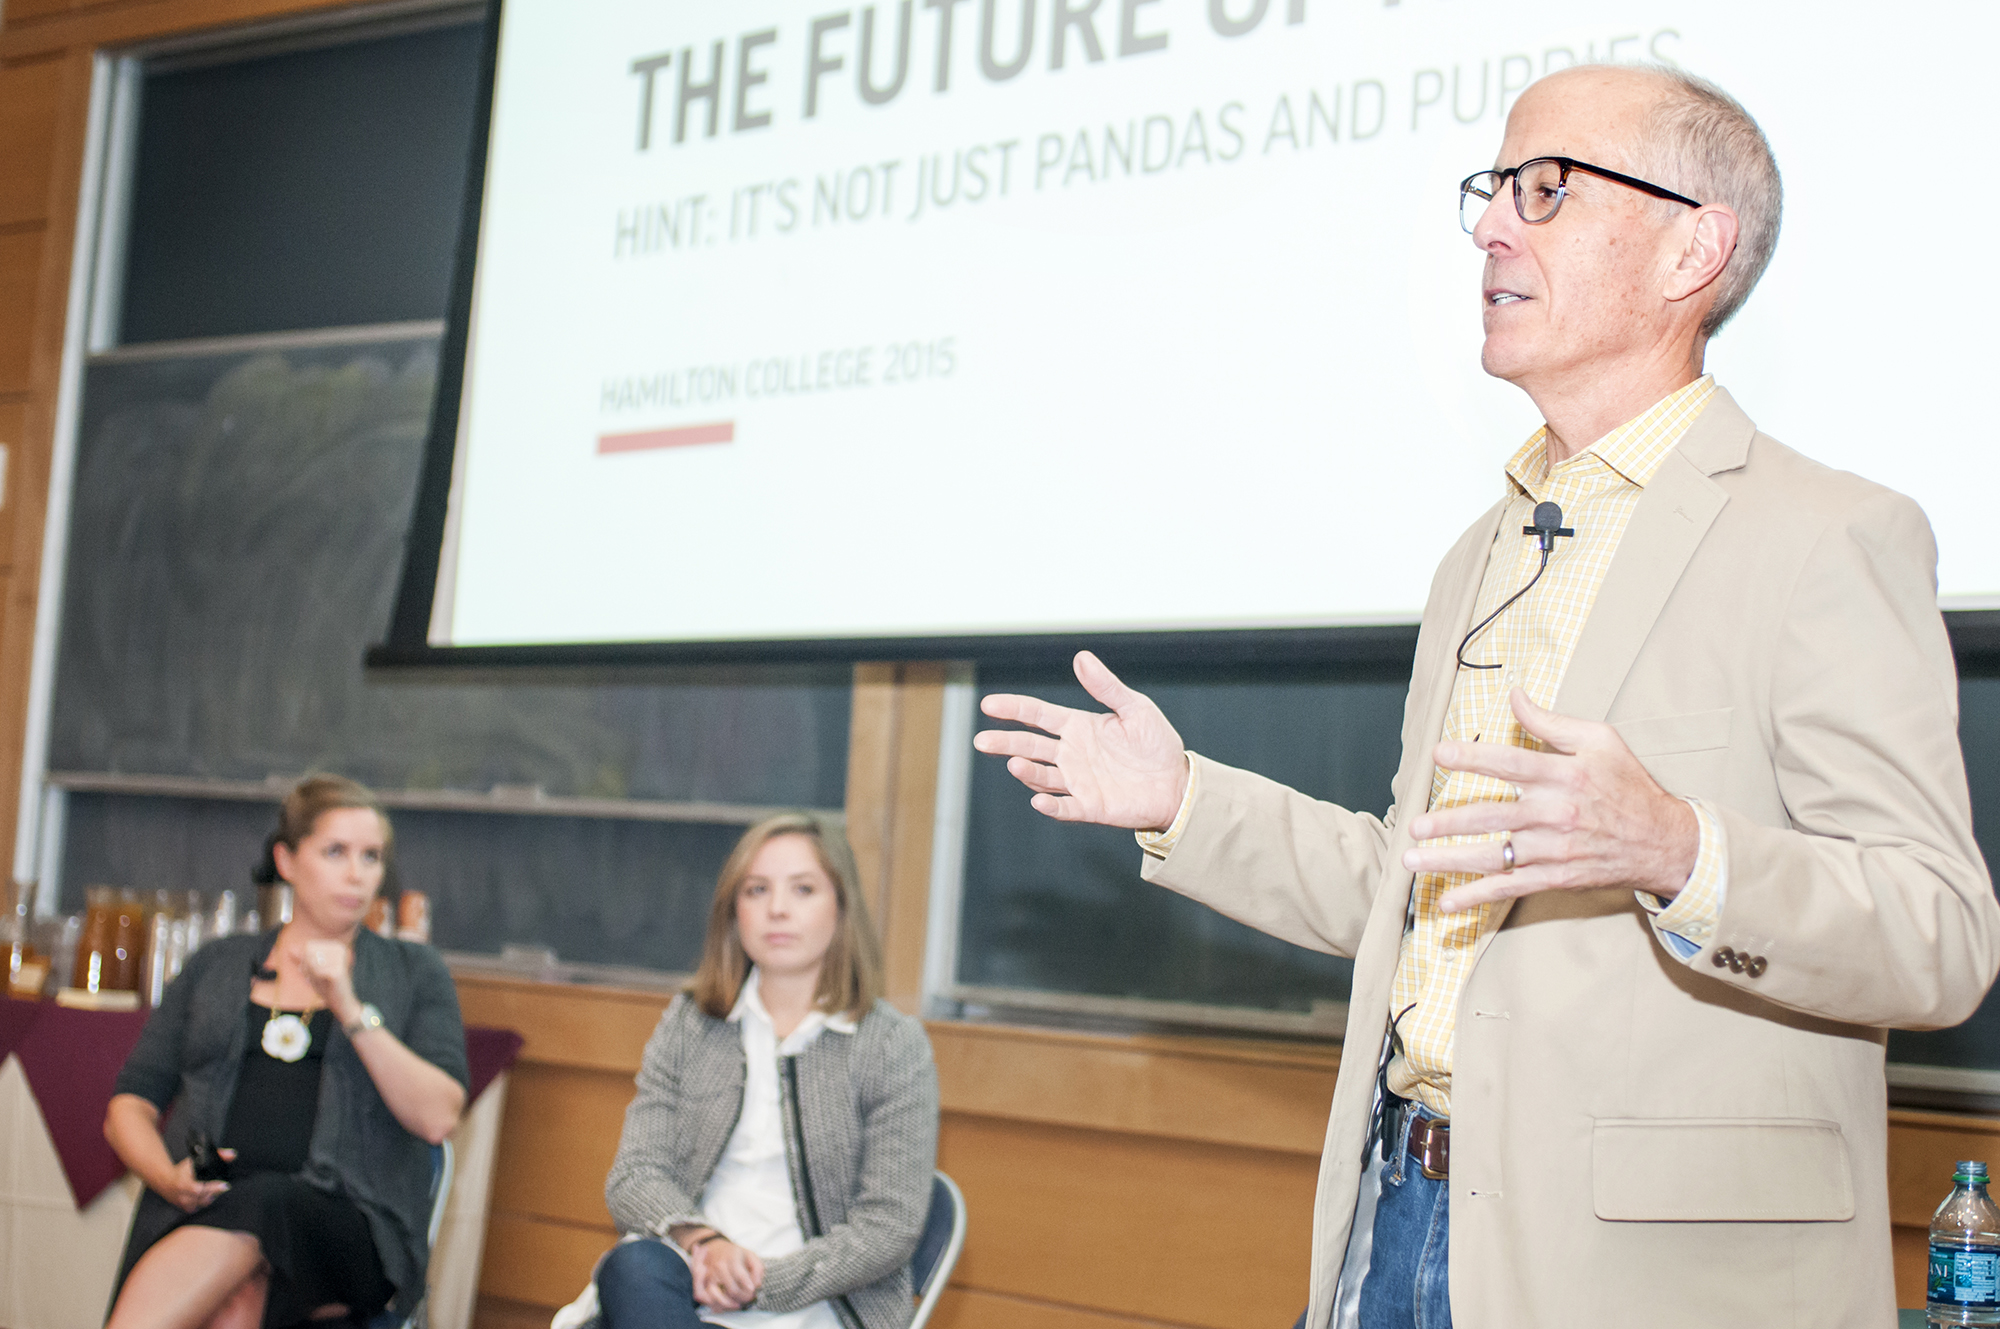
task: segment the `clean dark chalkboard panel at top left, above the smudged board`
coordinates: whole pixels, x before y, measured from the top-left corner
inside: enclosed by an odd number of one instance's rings
[[[322,36],[146,62],[118,340],[444,318],[480,24]]]

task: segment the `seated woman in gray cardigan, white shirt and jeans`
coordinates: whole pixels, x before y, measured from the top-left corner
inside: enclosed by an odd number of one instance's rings
[[[628,1233],[598,1265],[604,1329],[910,1323],[938,1073],[880,993],[846,837],[806,813],[752,827],[604,1183]]]

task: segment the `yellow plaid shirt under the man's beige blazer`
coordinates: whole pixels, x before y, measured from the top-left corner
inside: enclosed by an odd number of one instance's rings
[[[1500,518],[1494,556],[1486,562],[1472,622],[1500,608],[1502,600],[1534,576],[1542,552],[1532,536],[1520,534],[1520,528],[1532,520],[1538,502],[1562,504],[1562,522],[1576,534],[1556,540],[1548,570],[1534,590],[1508,606],[1466,646],[1466,660],[1500,662],[1502,669],[1458,671],[1444,719],[1446,739],[1540,747],[1514,719],[1508,695],[1520,687],[1536,705],[1554,705],[1570,654],[1598,598],[1598,586],[1604,584],[1604,572],[1632,520],[1632,508],[1714,390],[1712,376],[1698,378],[1554,468],[1544,450],[1546,426],[1514,454],[1506,466],[1510,502]],[[1518,550],[1512,558],[1506,554],[1510,546]],[[1190,771],[1198,779],[1200,767],[1192,761]],[[1194,807],[1194,795],[1190,779],[1188,797],[1174,825],[1164,833],[1138,837],[1146,853],[1166,857],[1172,851]],[[1516,797],[1512,785],[1462,771],[1438,769],[1430,785],[1432,811],[1512,797]],[[1702,845],[1688,885],[1666,907],[1650,895],[1640,895],[1640,903],[1654,915],[1656,931],[1682,941],[1682,947],[1674,949],[1680,959],[1688,959],[1714,933],[1724,887],[1722,827],[1700,803],[1694,803],[1694,813]],[[1456,915],[1440,913],[1438,897],[1464,881],[1472,877],[1426,873],[1416,879],[1412,923],[1402,939],[1390,995],[1390,1013],[1398,1015],[1400,1035],[1400,1053],[1390,1063],[1390,1089],[1442,1117],[1452,1113],[1452,1031],[1458,1019],[1458,995],[1472,971],[1480,939],[1498,927],[1502,917],[1494,905]]]

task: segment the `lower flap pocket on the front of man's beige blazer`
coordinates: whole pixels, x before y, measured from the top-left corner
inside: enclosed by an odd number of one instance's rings
[[[1590,1199],[1612,1223],[1842,1223],[1840,1125],[1806,1117],[1600,1117]]]

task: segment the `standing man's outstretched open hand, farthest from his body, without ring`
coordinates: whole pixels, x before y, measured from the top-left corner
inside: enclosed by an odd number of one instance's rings
[[[1034,791],[1036,813],[1128,831],[1164,831],[1188,787],[1188,751],[1148,697],[1118,683],[1088,650],[1076,652],[1076,681],[1110,715],[1052,707],[1034,697],[994,695],[980,711],[1042,733],[986,729],[972,747],[1006,757],[1008,775]]]

